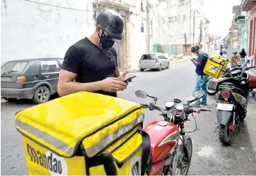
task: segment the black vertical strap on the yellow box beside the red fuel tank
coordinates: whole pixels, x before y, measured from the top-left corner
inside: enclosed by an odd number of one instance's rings
[[[139,131],[142,135],[142,156],[141,156],[141,175],[145,174],[147,168],[147,160],[150,156],[150,135],[147,132],[144,132],[142,128],[139,128]]]

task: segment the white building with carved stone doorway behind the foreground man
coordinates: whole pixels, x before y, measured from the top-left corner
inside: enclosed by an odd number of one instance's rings
[[[145,10],[141,0],[2,1],[1,64],[9,60],[64,57],[66,50],[96,29],[102,9],[113,9],[125,21],[124,37],[115,42],[121,68],[138,66],[146,51]],[[135,41],[134,41],[135,39]],[[137,42],[136,42],[137,41]]]

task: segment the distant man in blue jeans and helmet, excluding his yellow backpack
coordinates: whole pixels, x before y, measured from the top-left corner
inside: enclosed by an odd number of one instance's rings
[[[206,92],[207,95],[207,78],[208,76],[203,73],[203,68],[206,65],[208,55],[205,52],[199,52],[200,47],[198,45],[195,45],[194,47],[191,47],[191,52],[198,56],[198,59],[193,59],[193,63],[196,66],[195,73],[197,74],[196,77],[196,83],[195,83],[195,90],[203,89],[204,92]],[[207,99],[206,95],[203,97],[203,101],[200,102],[200,100],[196,100],[195,106],[200,107],[200,104],[207,105]]]

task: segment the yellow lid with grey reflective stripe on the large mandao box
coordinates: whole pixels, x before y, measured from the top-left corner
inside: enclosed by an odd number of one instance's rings
[[[143,121],[144,110],[141,105],[117,97],[78,92],[18,112],[15,115],[15,127],[51,151],[70,157],[74,156],[78,143],[84,137],[121,119],[127,113],[131,115],[106,133],[111,134],[131,121]],[[108,134],[99,135],[98,140],[101,140]],[[98,143],[97,139],[95,143]]]

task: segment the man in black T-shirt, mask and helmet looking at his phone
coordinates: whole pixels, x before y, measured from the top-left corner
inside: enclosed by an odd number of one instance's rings
[[[59,80],[58,94],[88,91],[117,97],[126,89],[125,72],[120,76],[115,39],[123,39],[123,18],[104,9],[96,19],[96,31],[73,44],[66,52]],[[75,81],[74,81],[75,80]]]

